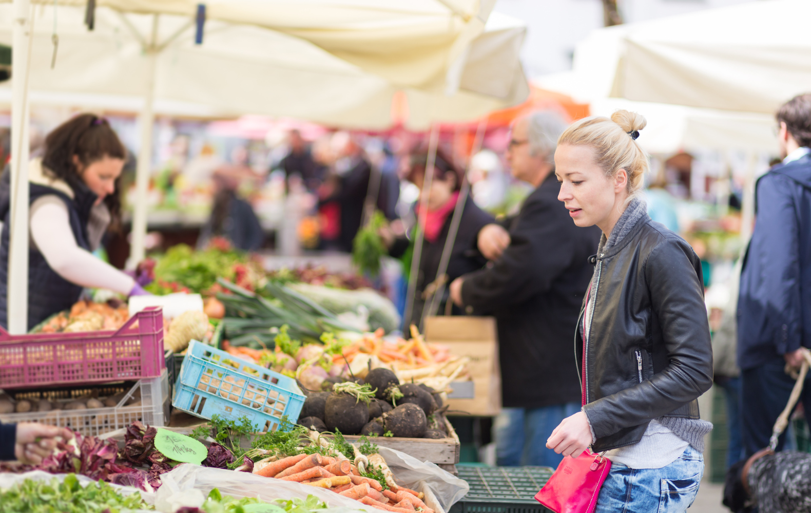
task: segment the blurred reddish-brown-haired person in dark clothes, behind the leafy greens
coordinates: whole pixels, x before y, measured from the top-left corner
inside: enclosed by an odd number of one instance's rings
[[[241,251],[256,251],[264,242],[264,231],[253,207],[238,195],[242,179],[255,178],[241,166],[221,166],[212,175],[214,201],[211,215],[200,230],[197,248],[208,247],[211,239],[222,237]]]

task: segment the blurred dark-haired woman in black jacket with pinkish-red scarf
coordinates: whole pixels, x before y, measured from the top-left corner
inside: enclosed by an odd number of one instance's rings
[[[411,153],[402,161],[402,174],[405,179],[414,183],[420,191],[423,190],[423,184],[425,183],[427,159],[427,151],[417,151]],[[412,308],[411,319],[405,319],[403,322],[405,326],[410,325],[412,322],[419,324],[425,303],[430,300],[431,295],[440,285],[435,282],[436,274],[439,271],[440,259],[445,248],[445,242],[448,239],[448,231],[453,220],[453,210],[459,200],[461,179],[461,170],[453,165],[450,157],[444,151],[437,150],[431,188],[414,205],[415,218],[419,220],[420,217],[423,217],[425,226],[423,226],[423,250],[420,255],[418,275],[416,277],[414,307]],[[466,198],[456,239],[453,240],[448,269],[445,271],[445,274],[448,275],[448,282],[453,281],[462,274],[481,269],[487,263],[487,259],[482,256],[476,247],[476,240],[478,232],[494,221],[489,213],[476,206],[470,196]],[[393,231],[381,231],[384,244],[388,246],[389,255],[392,257],[399,258],[407,255],[403,259],[403,266],[405,269],[410,269],[414,237],[406,238],[401,228],[399,229],[400,233],[397,233],[397,222],[394,222],[392,226]],[[448,288],[444,287],[444,291],[444,297],[440,301],[440,314],[445,311],[444,308],[448,302]],[[460,314],[462,312],[459,308],[454,307],[452,313]]]

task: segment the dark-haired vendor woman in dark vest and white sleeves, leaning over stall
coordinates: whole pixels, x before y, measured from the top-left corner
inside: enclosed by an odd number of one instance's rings
[[[41,158],[28,166],[31,239],[28,249],[28,329],[71,308],[83,287],[143,294],[133,278],[92,255],[120,203],[116,180],[127,150],[107,120],[80,114],[45,138]],[[0,325],[6,327],[11,194],[0,179]]]

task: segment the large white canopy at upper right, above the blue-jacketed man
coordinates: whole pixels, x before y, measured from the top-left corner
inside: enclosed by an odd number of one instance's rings
[[[592,32],[574,69],[606,97],[773,114],[811,90],[811,2],[761,0]]]

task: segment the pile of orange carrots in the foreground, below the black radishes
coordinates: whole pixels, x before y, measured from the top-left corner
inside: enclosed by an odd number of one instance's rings
[[[401,486],[394,489],[392,483],[387,484],[389,489],[384,489],[379,481],[361,476],[349,459],[320,454],[288,456],[276,461],[258,461],[254,463],[253,473],[329,489],[384,511],[433,513],[423,502],[422,493]]]

